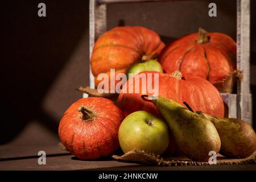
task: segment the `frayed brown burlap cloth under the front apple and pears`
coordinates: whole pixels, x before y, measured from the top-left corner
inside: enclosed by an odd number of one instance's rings
[[[229,159],[220,154],[217,155],[217,164],[256,164],[256,151],[253,155],[244,159]],[[210,157],[210,156],[209,156]],[[128,163],[139,163],[139,164],[155,164],[158,166],[201,166],[201,165],[210,165],[208,162],[195,162],[185,156],[172,157],[172,158],[162,158],[159,155],[154,155],[146,153],[141,150],[133,150],[127,152],[122,156],[113,155],[112,158],[119,160],[121,162]]]

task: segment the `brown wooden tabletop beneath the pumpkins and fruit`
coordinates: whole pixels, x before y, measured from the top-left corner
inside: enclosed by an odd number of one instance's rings
[[[104,173],[109,173],[108,171],[158,171],[158,170],[168,170],[168,171],[200,171],[200,170],[214,170],[214,171],[227,171],[227,170],[244,170],[244,171],[255,171],[255,164],[232,164],[232,165],[207,165],[207,166],[170,166],[170,167],[159,167],[157,165],[141,165],[135,163],[125,163],[118,162],[113,159],[100,159],[100,160],[79,160],[72,155],[65,156],[50,156],[46,158],[46,165],[39,165],[38,159],[23,159],[23,160],[10,160],[5,162],[0,162],[0,171],[5,170],[40,170],[40,171],[63,171],[63,170],[96,170],[105,171]],[[93,173],[93,171],[91,171]],[[149,173],[148,172],[148,173]],[[97,172],[99,174],[102,172]],[[10,173],[11,174],[11,173]],[[85,173],[86,175],[86,173]],[[2,176],[1,176],[2,177]],[[90,177],[90,176],[89,176]],[[123,177],[123,176],[122,176]],[[3,177],[2,177],[3,178]],[[41,177],[42,178],[42,177]],[[98,179],[98,175],[95,175]],[[83,181],[94,181],[89,180],[85,177]],[[112,180],[95,180],[95,181],[114,181]],[[116,181],[133,181],[133,180],[122,180],[121,177]],[[149,180],[138,180],[138,181],[149,181]],[[151,180],[152,181],[152,180]],[[155,180],[159,181],[159,180]]]

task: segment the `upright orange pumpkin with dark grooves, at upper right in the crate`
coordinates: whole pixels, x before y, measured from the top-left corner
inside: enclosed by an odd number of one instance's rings
[[[236,76],[236,42],[230,36],[199,28],[166,46],[159,56],[164,71],[200,76],[220,92],[231,92]]]

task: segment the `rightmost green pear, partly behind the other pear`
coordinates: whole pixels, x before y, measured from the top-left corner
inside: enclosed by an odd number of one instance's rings
[[[217,118],[197,111],[208,117],[221,139],[220,154],[228,158],[246,158],[256,150],[256,134],[253,128],[236,118]]]

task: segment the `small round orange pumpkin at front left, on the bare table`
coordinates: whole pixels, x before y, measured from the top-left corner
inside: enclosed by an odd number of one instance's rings
[[[80,159],[109,156],[119,147],[122,111],[102,97],[81,98],[73,103],[59,124],[59,138]]]

